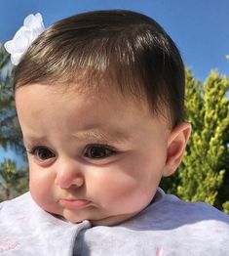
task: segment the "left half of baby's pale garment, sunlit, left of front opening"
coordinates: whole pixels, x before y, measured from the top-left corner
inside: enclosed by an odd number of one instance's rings
[[[40,208],[29,192],[0,204],[0,254],[6,256],[70,255],[77,229]]]

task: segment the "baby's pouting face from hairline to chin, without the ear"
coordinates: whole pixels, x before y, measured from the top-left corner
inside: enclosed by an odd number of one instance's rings
[[[114,225],[152,200],[167,164],[168,124],[146,107],[33,84],[16,92],[30,192],[46,211]]]

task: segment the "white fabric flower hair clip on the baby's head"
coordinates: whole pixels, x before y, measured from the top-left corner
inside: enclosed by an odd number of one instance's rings
[[[24,19],[14,38],[4,44],[7,52],[11,54],[12,64],[19,64],[22,55],[44,30],[41,14],[29,15]]]

